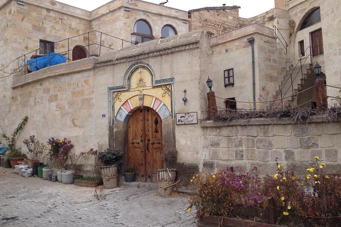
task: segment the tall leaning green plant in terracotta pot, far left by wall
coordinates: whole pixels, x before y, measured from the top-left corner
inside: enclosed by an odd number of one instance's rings
[[[23,153],[21,153],[21,148],[15,147],[15,137],[18,135],[20,130],[23,128],[23,126],[27,123],[29,117],[25,116],[22,121],[18,124],[14,132],[11,136],[8,136],[6,133],[2,134],[2,137],[6,139],[7,146],[8,146],[8,159],[11,162],[12,168],[14,168],[14,165],[18,164],[18,161],[23,161],[24,158],[27,158],[27,156]]]

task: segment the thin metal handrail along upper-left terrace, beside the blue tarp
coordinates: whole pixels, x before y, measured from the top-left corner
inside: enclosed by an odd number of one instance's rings
[[[90,43],[90,34],[91,34],[91,33],[99,33],[99,34],[100,34],[100,37],[99,37],[99,44],[98,44],[97,42]],[[122,48],[123,48],[123,43],[124,43],[124,42],[127,42],[127,43],[129,43],[130,45],[131,45],[131,44],[134,44],[134,43],[132,43],[132,42],[130,42],[130,41],[127,41],[127,40],[124,40],[124,39],[121,39],[121,38],[118,38],[118,37],[115,37],[115,36],[112,36],[112,35],[109,35],[109,34],[106,34],[106,33],[102,33],[102,32],[93,30],[93,31],[91,31],[91,32],[83,33],[83,34],[80,34],[80,35],[72,36],[72,37],[69,37],[69,38],[66,38],[66,39],[63,39],[63,40],[59,40],[59,41],[57,41],[57,42],[54,42],[53,45],[56,45],[56,44],[58,44],[58,43],[67,41],[67,50],[62,51],[62,52],[56,52],[56,54],[63,54],[63,55],[68,55],[68,56],[69,56],[69,55],[70,55],[70,42],[69,42],[69,41],[70,41],[71,39],[74,39],[74,38],[79,37],[79,36],[84,36],[84,35],[87,35],[87,36],[88,36],[88,45],[85,46],[85,47],[87,47],[87,50],[88,50],[88,53],[89,53],[89,54],[88,54],[88,58],[90,58],[90,55],[91,55],[91,54],[90,54],[90,47],[93,46],[93,45],[94,45],[94,46],[99,46],[98,56],[100,56],[101,47],[105,47],[105,48],[107,48],[107,49],[112,49],[112,50],[114,49],[114,48],[112,48],[112,47],[110,47],[110,46],[105,46],[105,45],[102,44],[102,35],[106,35],[106,36],[112,37],[112,38],[114,38],[114,39],[121,40],[121,41],[122,41],[122,45],[121,45]],[[51,44],[47,44],[47,45],[45,45],[45,46],[43,46],[43,47],[40,47],[40,48],[38,48],[38,49],[35,49],[35,50],[31,51],[31,52],[25,53],[25,54],[19,56],[18,58],[16,58],[15,60],[13,60],[12,62],[14,62],[14,61],[16,61],[16,60],[19,61],[19,59],[22,59],[22,58],[23,58],[24,69],[26,69],[26,68],[27,68],[26,60],[29,59],[29,58],[28,58],[28,55],[34,54],[35,56],[38,56],[39,50],[44,50],[48,45],[51,45]],[[70,61],[70,58],[68,58],[68,61]],[[26,70],[24,70],[24,75],[25,75],[25,74],[26,74]]]

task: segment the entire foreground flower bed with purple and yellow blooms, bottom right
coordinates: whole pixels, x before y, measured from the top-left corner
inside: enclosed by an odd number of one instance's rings
[[[296,177],[293,169],[284,168],[277,160],[277,172],[263,179],[243,173],[239,167],[235,168],[238,172],[226,168],[216,174],[197,174],[190,183],[195,194],[188,211],[195,206],[198,218],[217,215],[269,223],[271,209],[276,224],[341,226],[341,178],[327,176],[326,165],[319,163],[318,156],[314,158],[316,163],[306,169],[305,179]]]

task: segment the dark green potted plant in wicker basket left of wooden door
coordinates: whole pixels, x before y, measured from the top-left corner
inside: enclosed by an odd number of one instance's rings
[[[122,164],[122,152],[108,148],[104,152],[98,153],[98,159],[104,165],[99,165],[105,188],[117,187],[118,165]]]

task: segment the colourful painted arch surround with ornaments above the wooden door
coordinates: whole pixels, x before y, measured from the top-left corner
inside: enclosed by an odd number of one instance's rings
[[[135,109],[148,106],[162,120],[173,117],[173,78],[155,80],[146,63],[132,64],[123,77],[123,86],[109,88],[111,119],[127,122]]]

